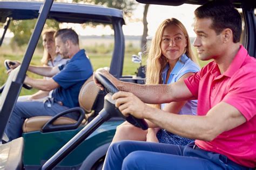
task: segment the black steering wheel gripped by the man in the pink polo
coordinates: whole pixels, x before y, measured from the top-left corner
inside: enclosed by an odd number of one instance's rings
[[[98,80],[98,82],[100,84],[102,84],[102,86],[106,89],[107,93],[117,93],[119,90],[117,89],[116,86],[114,86],[114,84],[112,84],[109,79],[107,79],[102,73],[100,72],[95,72],[95,78]],[[146,121],[144,119],[139,119],[136,118],[132,115],[129,114],[128,117],[125,117],[117,108],[118,112],[119,112],[119,116],[123,117],[127,122],[133,124],[134,126],[141,128],[143,130],[147,130],[147,128],[149,128],[149,125],[146,123]]]

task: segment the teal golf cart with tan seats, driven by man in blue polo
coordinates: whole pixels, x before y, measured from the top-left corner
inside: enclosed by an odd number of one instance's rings
[[[42,2],[0,1],[0,21],[5,23],[0,44],[12,20],[37,19],[35,29],[26,49],[22,65],[11,72],[2,91],[0,100],[0,137],[21,91],[26,70],[30,64],[38,39],[46,19],[59,23],[99,23],[110,24],[114,30],[114,49],[109,72],[122,79],[124,61],[123,12],[99,5]],[[8,61],[6,61],[8,62]],[[136,77],[125,77],[124,81],[136,82]],[[66,110],[55,117],[32,117],[23,125],[23,137],[0,145],[0,167],[5,169],[39,169],[59,148],[84,128],[103,109],[106,92],[99,91],[92,77],[84,83],[79,93],[80,108]],[[78,120],[63,117],[68,112],[78,111]],[[91,131],[56,169],[97,169],[103,160],[122,118],[114,117]]]

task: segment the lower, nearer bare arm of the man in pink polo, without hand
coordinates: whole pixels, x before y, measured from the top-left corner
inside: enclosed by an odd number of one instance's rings
[[[170,115],[167,112],[161,114],[151,112],[151,114],[145,117],[167,131],[206,141],[211,141],[220,133],[246,122],[239,110],[224,102],[213,107],[206,116]]]

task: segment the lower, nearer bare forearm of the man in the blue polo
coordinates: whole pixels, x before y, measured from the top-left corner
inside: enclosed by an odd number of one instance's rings
[[[51,91],[59,87],[59,84],[55,82],[52,78],[45,80],[45,79],[32,79],[26,76],[24,83],[29,84],[33,88],[43,90],[43,91]]]

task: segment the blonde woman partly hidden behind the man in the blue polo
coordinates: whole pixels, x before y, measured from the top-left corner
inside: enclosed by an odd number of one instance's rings
[[[59,54],[56,54],[56,47],[55,47],[55,39],[54,34],[55,30],[45,30],[42,33],[43,38],[43,47],[44,47],[44,54],[42,57],[42,64],[44,66],[58,66],[65,64],[69,59],[64,59]],[[45,79],[48,79],[48,77],[45,77]],[[18,101],[28,101],[28,100],[36,100],[41,101],[44,100],[46,97],[51,95],[51,91],[43,91],[39,90],[37,93],[33,95],[27,95],[27,96],[19,96]]]

